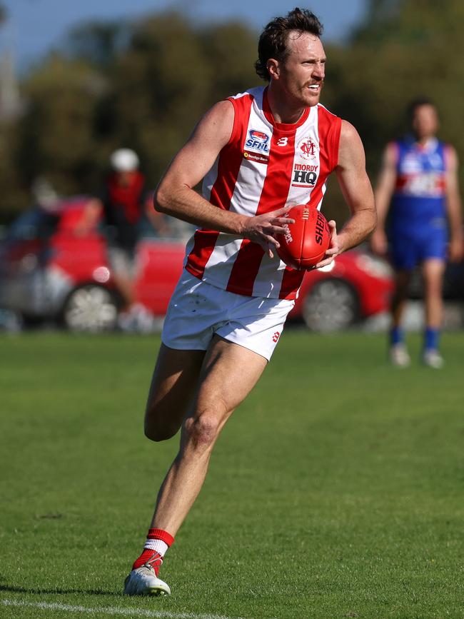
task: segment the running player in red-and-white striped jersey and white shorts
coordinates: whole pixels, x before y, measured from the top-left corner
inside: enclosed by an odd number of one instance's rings
[[[196,499],[218,434],[261,376],[303,279],[275,253],[287,204],[321,206],[336,171],[351,216],[318,266],[363,241],[375,206],[357,131],[318,105],[321,23],[294,9],[271,21],[256,71],[268,81],[203,116],[156,191],[158,210],[199,226],[173,293],[146,406],[145,433],[181,446],[156,501],[128,595],[168,594],[164,553]],[[203,197],[193,187],[203,181]],[[198,553],[208,540],[198,539]]]

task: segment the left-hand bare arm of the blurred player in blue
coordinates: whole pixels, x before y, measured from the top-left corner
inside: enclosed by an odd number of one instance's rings
[[[377,208],[377,228],[370,238],[370,246],[374,253],[385,256],[388,251],[388,241],[385,234],[385,221],[390,208],[391,197],[396,183],[397,148],[395,144],[388,144],[383,153],[382,167],[375,187],[375,206]]]

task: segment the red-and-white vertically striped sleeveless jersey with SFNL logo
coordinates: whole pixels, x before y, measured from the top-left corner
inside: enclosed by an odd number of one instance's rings
[[[341,119],[318,104],[295,124],[276,123],[264,86],[229,101],[235,109],[231,139],[203,179],[203,197],[248,216],[295,204],[320,209],[338,162]],[[304,274],[276,252],[269,258],[258,243],[205,228],[188,241],[185,267],[218,288],[267,298],[296,298]]]

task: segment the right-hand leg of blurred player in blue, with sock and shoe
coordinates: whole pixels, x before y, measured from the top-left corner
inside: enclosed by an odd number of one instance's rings
[[[438,337],[443,323],[443,273],[445,262],[439,258],[429,258],[422,267],[425,289],[425,333],[423,362],[431,368],[443,366],[443,358],[438,351]]]

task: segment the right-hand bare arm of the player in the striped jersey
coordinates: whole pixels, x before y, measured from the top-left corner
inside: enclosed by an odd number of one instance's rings
[[[336,173],[351,216],[339,233],[335,221],[329,221],[331,247],[326,253],[328,257],[316,265],[318,268],[331,263],[338,253],[364,241],[377,220],[373,191],[365,171],[363,143],[358,131],[347,121],[342,121]]]

